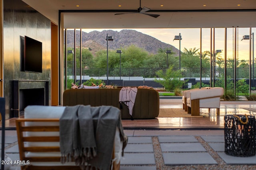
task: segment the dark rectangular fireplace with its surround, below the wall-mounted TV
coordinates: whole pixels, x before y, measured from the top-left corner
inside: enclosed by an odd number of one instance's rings
[[[23,115],[28,105],[49,105],[49,81],[14,80],[13,85],[13,115],[10,117]]]

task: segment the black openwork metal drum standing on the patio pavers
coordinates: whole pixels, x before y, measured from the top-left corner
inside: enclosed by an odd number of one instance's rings
[[[255,117],[225,115],[225,153],[232,156],[254,156],[256,153]]]

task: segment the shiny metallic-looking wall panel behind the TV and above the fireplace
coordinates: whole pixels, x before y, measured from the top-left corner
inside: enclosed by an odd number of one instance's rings
[[[13,108],[13,80],[36,80],[31,83],[49,81],[47,93],[48,102],[51,102],[51,22],[22,0],[4,0],[3,4],[4,98],[6,117],[12,117],[12,109],[17,109]],[[24,72],[21,69],[21,37],[24,36],[42,42],[42,73]]]

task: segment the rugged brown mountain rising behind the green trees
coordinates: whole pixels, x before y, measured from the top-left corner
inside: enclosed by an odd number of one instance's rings
[[[156,54],[159,48],[171,48],[172,52],[176,54],[179,53],[179,50],[170,44],[163,43],[150,35],[130,29],[123,29],[119,32],[113,30],[104,30],[101,32],[92,31],[90,33],[86,33],[82,31],[82,47],[90,48],[92,53],[106,49],[107,33],[108,35],[114,37],[114,42],[108,41],[108,49],[118,50],[120,47],[128,47],[133,44],[153,54]],[[74,30],[68,30],[67,37],[68,47],[74,47]],[[76,46],[80,46],[80,30],[76,30]]]

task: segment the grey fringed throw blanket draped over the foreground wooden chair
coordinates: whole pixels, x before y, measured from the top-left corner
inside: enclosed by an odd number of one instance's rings
[[[100,170],[109,170],[116,127],[120,130],[124,147],[120,110],[112,106],[66,106],[60,118],[61,162],[74,159],[81,169],[88,164]]]

